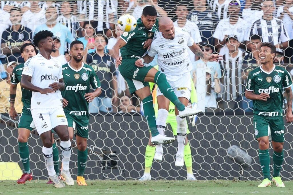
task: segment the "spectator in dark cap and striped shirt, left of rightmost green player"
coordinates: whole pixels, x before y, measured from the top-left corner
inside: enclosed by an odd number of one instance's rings
[[[231,35],[226,39],[228,52],[223,55],[220,61],[224,68],[224,94],[219,103],[222,109],[234,110],[238,108],[238,101],[242,99],[245,86],[242,84],[241,73],[243,64],[243,52],[239,49],[240,42],[236,35]]]

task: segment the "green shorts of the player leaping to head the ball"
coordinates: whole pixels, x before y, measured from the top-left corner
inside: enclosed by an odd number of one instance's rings
[[[126,80],[129,91],[133,94],[136,90],[149,87],[149,82],[144,82],[144,78],[152,66],[137,67],[134,63],[138,58],[124,57],[119,66],[119,72]]]

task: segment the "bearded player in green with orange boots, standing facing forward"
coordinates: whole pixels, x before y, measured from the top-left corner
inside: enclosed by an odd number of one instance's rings
[[[63,107],[71,140],[74,127],[76,129],[77,184],[86,186],[83,175],[88,156],[88,103],[101,94],[101,85],[93,68],[82,62],[84,44],[81,41],[73,41],[70,44],[69,54],[72,56],[71,61],[62,66],[65,83],[65,90],[62,92]],[[91,92],[91,87],[95,91]]]

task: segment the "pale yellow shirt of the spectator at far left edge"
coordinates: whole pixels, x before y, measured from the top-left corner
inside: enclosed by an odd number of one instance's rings
[[[9,99],[10,84],[6,80],[0,82],[0,113],[9,113],[10,99]],[[23,104],[21,102],[21,86],[18,83],[16,88],[15,110],[21,113]]]

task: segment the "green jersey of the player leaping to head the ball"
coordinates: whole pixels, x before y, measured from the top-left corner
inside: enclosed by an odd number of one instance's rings
[[[141,18],[137,20],[136,28],[131,32],[124,32],[121,38],[127,43],[120,49],[122,60],[123,57],[141,57],[146,51],[144,49],[144,42],[149,38],[154,38],[154,35],[158,32],[159,20],[151,30],[147,30],[142,24]]]

